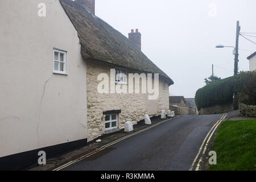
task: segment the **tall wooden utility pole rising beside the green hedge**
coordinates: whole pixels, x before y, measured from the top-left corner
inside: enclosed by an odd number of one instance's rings
[[[240,35],[240,22],[237,21],[237,33],[236,33],[236,53],[235,53],[235,59],[234,59],[234,76],[236,76],[238,74],[238,42],[239,42],[239,35]],[[235,83],[236,84],[236,83]],[[233,93],[233,109],[236,110],[237,109],[237,101],[236,101],[236,91],[234,91]]]

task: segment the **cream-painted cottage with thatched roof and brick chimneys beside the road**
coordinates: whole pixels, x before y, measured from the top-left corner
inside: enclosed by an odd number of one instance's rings
[[[83,146],[144,114],[167,113],[174,82],[142,53],[138,30],[127,39],[94,6],[94,0],[1,0],[0,169],[36,163],[39,151],[49,158]],[[158,73],[158,97],[99,93],[101,73],[115,88],[135,85],[129,73],[141,80]]]

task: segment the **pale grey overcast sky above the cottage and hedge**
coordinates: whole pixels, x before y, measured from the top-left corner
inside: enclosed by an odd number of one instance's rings
[[[237,20],[241,32],[256,32],[255,7],[255,0],[96,0],[96,15],[125,36],[139,28],[144,54],[174,80],[170,94],[195,97],[212,64],[214,75],[233,75],[233,48],[215,46],[235,46]],[[240,48],[249,51],[240,51],[239,71],[249,71],[256,46],[240,36]]]

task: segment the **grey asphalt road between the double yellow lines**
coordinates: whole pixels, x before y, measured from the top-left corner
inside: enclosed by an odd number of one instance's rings
[[[222,114],[181,115],[62,170],[187,171],[205,136],[221,117]]]

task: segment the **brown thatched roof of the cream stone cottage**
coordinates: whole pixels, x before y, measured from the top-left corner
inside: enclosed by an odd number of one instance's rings
[[[104,20],[92,16],[77,2],[60,0],[60,3],[78,32],[84,59],[159,73],[168,80],[169,85],[174,84],[171,78],[148,59],[133,42]]]

